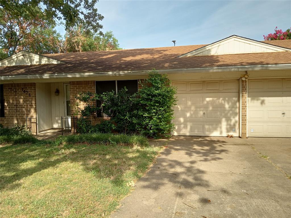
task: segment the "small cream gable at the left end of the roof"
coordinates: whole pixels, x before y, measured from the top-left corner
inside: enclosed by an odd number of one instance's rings
[[[59,64],[62,61],[45,57],[43,55],[34,54],[28,51],[19,51],[18,53],[1,60],[0,65],[15,66],[15,65],[36,65],[36,64]]]

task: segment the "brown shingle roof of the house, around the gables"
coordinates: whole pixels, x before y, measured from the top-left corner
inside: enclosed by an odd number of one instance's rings
[[[291,40],[264,42],[291,48]],[[191,69],[202,67],[291,63],[291,51],[177,58],[179,55],[203,46],[205,45],[45,54],[44,56],[61,60],[66,63],[1,67],[1,76],[56,73],[74,74],[88,72],[103,73],[118,71],[147,71],[152,68],[158,70]]]

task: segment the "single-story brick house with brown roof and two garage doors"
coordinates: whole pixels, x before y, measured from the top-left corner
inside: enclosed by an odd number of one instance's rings
[[[174,135],[291,137],[291,40],[236,35],[208,45],[20,51],[1,61],[1,124],[37,117],[38,132],[61,128],[61,117],[73,116],[77,93],[124,86],[136,92],[152,68],[177,87]],[[69,119],[65,126],[72,125]]]

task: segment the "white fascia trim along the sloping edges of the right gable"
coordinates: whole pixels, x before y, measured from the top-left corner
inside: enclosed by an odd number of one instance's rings
[[[260,41],[256,41],[256,40],[251,40],[251,39],[248,39],[248,38],[244,38],[244,37],[240,37],[240,36],[237,36],[237,35],[233,35],[233,36],[230,36],[230,37],[227,37],[225,39],[222,39],[222,40],[219,40],[217,42],[214,42],[212,44],[209,44],[209,45],[205,45],[199,49],[195,49],[193,51],[190,51],[190,52],[187,52],[185,54],[182,54],[180,56],[178,56],[178,58],[182,58],[182,57],[189,57],[189,56],[194,56],[194,55],[197,55],[199,53],[202,53],[203,51],[207,51],[208,49],[212,49],[214,47],[217,47],[219,45],[223,45],[227,42],[230,42],[230,41],[239,41],[239,42],[247,42],[251,45],[260,45],[262,47],[265,47],[265,48],[269,48],[269,49],[272,49],[272,50],[275,50],[275,51],[291,51],[291,49],[288,49],[288,48],[284,48],[284,47],[280,47],[280,46],[276,46],[276,45],[272,45],[272,44],[269,44],[269,43],[264,43],[264,42],[260,42]],[[251,53],[255,53],[255,52],[251,52]],[[227,53],[227,54],[230,54],[230,53]]]

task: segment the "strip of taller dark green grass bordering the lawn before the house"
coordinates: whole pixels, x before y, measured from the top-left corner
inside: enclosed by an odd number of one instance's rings
[[[93,133],[93,134],[80,134],[80,135],[67,135],[57,137],[55,140],[38,140],[33,135],[2,135],[0,136],[0,143],[13,143],[13,144],[52,144],[60,145],[88,143],[88,144],[116,144],[116,145],[130,145],[130,146],[148,146],[148,140],[141,135],[125,135],[125,134],[112,134],[112,133]]]

